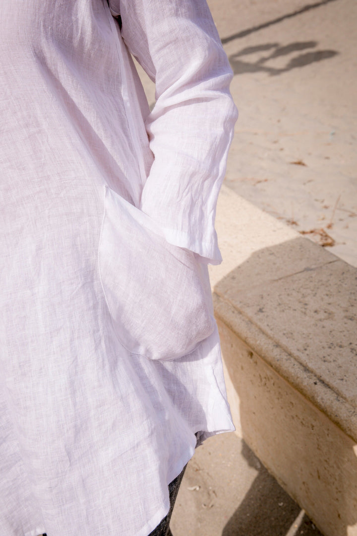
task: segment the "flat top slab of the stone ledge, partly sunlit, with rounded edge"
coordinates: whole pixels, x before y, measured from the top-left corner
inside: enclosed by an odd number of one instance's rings
[[[234,196],[217,210],[216,316],[357,441],[357,270]]]

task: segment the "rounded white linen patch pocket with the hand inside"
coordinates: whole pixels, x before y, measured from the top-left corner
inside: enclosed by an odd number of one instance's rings
[[[166,242],[151,218],[108,187],[98,257],[113,326],[129,352],[172,360],[214,331],[193,252]]]

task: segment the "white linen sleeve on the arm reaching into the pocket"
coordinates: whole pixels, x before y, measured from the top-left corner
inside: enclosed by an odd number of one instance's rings
[[[166,240],[221,262],[216,203],[237,109],[232,71],[205,0],[120,0],[122,35],[155,81],[146,121],[155,160],[141,210]]]

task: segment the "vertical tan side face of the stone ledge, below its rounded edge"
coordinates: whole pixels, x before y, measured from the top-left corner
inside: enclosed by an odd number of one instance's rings
[[[240,434],[325,536],[357,536],[355,442],[225,323],[218,327]]]

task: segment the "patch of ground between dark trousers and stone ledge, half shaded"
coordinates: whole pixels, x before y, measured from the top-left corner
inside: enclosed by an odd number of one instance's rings
[[[322,536],[233,432],[196,449],[170,527],[173,536]]]

